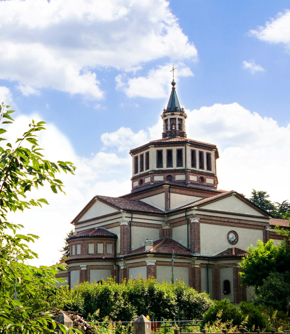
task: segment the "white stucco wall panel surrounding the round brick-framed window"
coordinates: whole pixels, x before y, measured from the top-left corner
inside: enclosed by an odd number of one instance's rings
[[[239,240],[235,245],[229,243],[227,239],[227,234],[231,230],[236,231],[239,236]],[[200,224],[200,252],[202,255],[216,255],[232,246],[246,250],[251,244],[256,245],[258,239],[263,240],[262,230],[237,226]]]

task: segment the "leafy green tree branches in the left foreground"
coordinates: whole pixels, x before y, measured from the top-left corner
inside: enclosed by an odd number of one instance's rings
[[[7,132],[5,124],[13,123],[10,106],[0,104],[0,135]],[[56,267],[33,267],[26,265],[37,254],[28,247],[36,235],[17,233],[22,227],[7,221],[8,211],[23,211],[25,208],[48,204],[44,198],[29,199],[32,189],[49,184],[54,193],[63,192],[63,183],[56,173],[73,173],[71,162],[50,162],[43,158],[37,134],[44,130],[45,122],[29,124],[29,129],[18,138],[15,145],[0,138],[0,331],[4,333],[47,333],[48,324],[55,322],[47,315],[33,317],[30,313],[28,296],[37,298],[35,285],[53,285]],[[8,127],[10,129],[10,126]],[[15,285],[14,285],[15,283]],[[17,300],[14,299],[14,286]],[[65,332],[65,328],[62,328]],[[49,332],[54,332],[52,329]]]

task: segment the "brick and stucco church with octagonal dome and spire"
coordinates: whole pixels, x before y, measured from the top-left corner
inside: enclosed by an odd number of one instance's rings
[[[175,81],[163,110],[162,138],[130,150],[132,190],[96,195],[73,219],[69,286],[155,277],[183,280],[211,298],[248,300],[238,263],[257,240],[274,238],[276,219],[234,190],[219,190],[216,145],[188,139]],[[279,222],[278,222],[279,223]]]

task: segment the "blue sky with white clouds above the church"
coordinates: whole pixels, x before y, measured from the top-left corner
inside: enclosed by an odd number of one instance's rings
[[[52,160],[72,160],[67,196],[14,215],[59,257],[69,222],[95,195],[130,192],[134,148],[161,136],[172,64],[188,138],[219,148],[219,187],[289,198],[289,1],[0,1],[0,96],[12,135],[44,120]],[[53,244],[51,245],[51,238]],[[47,249],[50,249],[48,254]]]

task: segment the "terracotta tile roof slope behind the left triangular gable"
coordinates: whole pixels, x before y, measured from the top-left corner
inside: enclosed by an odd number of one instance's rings
[[[99,196],[99,195],[95,196],[95,198],[98,198],[122,210],[164,213],[164,211],[159,210],[154,206],[141,202],[139,200],[120,198],[120,197]]]

